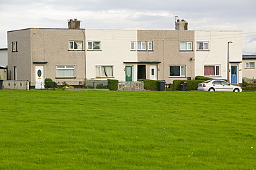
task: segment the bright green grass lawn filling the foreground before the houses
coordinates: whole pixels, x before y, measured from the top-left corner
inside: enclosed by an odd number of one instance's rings
[[[256,93],[0,91],[0,169],[256,169]]]

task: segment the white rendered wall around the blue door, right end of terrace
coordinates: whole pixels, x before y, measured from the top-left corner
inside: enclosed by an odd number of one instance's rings
[[[230,44],[230,66],[238,66],[238,83],[242,83],[242,36],[240,30],[196,30],[194,42],[195,75],[204,75],[205,65],[219,65],[220,76],[212,76],[212,78],[228,79],[228,41],[232,41]],[[208,41],[209,50],[196,50],[197,41]]]

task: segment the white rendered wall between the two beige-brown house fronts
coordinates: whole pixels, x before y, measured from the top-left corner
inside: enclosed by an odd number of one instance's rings
[[[125,80],[125,66],[133,66],[133,80],[137,79],[137,52],[131,51],[131,41],[136,41],[137,30],[86,30],[86,79],[96,77],[95,66],[113,66],[111,79]],[[88,41],[101,41],[100,50],[88,50]]]

